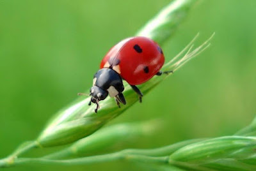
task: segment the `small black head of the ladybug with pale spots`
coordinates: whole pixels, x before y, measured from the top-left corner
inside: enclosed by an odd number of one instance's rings
[[[92,103],[98,103],[100,100],[104,100],[108,96],[108,91],[93,85],[90,89],[90,95],[92,96]]]

